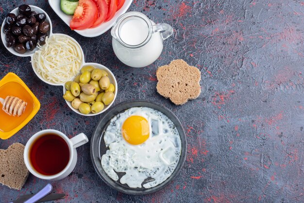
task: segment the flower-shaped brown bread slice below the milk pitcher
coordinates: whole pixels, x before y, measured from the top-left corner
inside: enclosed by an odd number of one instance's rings
[[[174,104],[185,104],[189,99],[197,98],[201,93],[201,72],[189,66],[184,60],[173,60],[169,65],[161,66],[156,71],[156,90],[169,98]]]

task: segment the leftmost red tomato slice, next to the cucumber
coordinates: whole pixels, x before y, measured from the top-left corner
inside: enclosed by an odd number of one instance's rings
[[[84,30],[91,27],[97,18],[97,12],[97,6],[93,0],[79,0],[69,27],[72,30]]]

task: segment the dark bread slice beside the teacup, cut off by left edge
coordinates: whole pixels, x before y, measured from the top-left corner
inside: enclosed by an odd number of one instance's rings
[[[29,176],[23,159],[24,145],[14,143],[0,149],[0,183],[9,188],[21,189]]]

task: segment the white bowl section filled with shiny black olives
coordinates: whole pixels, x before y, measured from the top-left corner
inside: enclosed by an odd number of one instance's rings
[[[30,56],[43,46],[52,32],[51,19],[41,8],[22,4],[7,14],[1,26],[6,49],[17,56]]]

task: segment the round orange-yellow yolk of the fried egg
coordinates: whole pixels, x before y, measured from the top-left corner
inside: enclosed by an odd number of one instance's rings
[[[138,115],[128,117],[122,125],[122,136],[131,145],[139,145],[149,138],[148,121]]]

